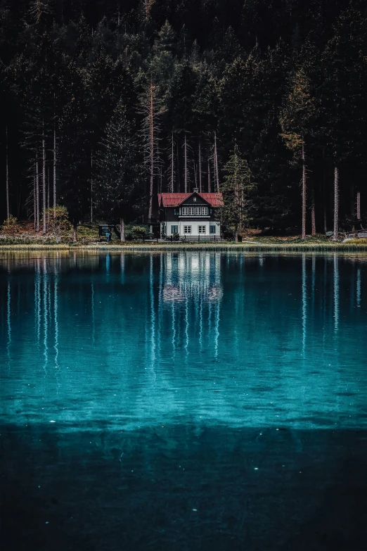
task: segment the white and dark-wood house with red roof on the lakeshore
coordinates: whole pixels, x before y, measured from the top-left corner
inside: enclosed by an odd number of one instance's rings
[[[219,239],[221,224],[216,211],[221,206],[222,194],[202,194],[197,188],[186,194],[158,194],[160,234]]]

